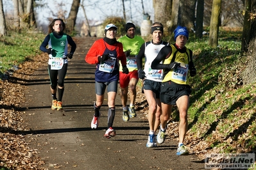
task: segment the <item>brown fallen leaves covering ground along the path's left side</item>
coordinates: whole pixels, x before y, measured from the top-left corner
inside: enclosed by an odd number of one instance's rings
[[[47,57],[37,56],[33,60],[19,65],[19,70],[6,73],[0,80],[0,169],[40,169],[44,164],[37,156],[37,150],[31,150],[26,141],[30,139],[29,129],[22,119],[22,102],[25,101],[26,80]]]

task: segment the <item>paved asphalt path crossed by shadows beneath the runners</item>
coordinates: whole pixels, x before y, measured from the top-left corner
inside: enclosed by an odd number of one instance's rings
[[[107,93],[101,107],[99,127],[90,128],[94,114],[95,66],[85,55],[97,38],[74,38],[77,49],[69,60],[63,97],[64,111],[51,110],[47,63],[36,70],[26,85],[24,120],[31,128],[30,148],[37,149],[45,169],[204,169],[195,155],[177,156],[177,142],[167,137],[157,148],[146,148],[148,121],[137,117],[122,120],[120,92],[116,98],[115,137],[105,139]]]

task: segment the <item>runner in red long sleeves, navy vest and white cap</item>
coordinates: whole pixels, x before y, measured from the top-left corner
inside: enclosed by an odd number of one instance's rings
[[[105,27],[105,37],[96,40],[90,47],[85,56],[85,61],[91,65],[96,65],[95,88],[96,102],[94,102],[94,117],[90,124],[91,128],[97,128],[99,125],[99,109],[103,104],[105,89],[108,91],[108,130],[105,137],[115,136],[115,130],[112,128],[115,118],[115,97],[117,94],[117,83],[119,81],[119,60],[123,66],[123,73],[129,73],[126,67],[126,56],[123,52],[123,44],[117,42],[115,36],[117,27],[114,24],[108,24]]]

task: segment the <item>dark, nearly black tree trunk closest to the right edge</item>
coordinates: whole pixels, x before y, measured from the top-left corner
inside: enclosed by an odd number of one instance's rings
[[[251,21],[249,12],[251,11],[252,1],[246,0],[244,2],[244,25],[243,25],[243,36],[242,36],[242,44],[241,44],[241,50],[244,50],[245,52],[248,51],[248,45],[250,43],[250,27],[251,27]]]

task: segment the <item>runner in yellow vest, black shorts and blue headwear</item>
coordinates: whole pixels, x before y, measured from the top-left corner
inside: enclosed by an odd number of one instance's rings
[[[161,126],[157,135],[157,142],[164,143],[166,139],[167,121],[171,116],[173,105],[177,105],[180,112],[180,123],[178,127],[179,143],[176,155],[189,153],[183,144],[187,132],[187,110],[189,109],[189,86],[188,75],[196,75],[196,68],[192,61],[192,50],[187,49],[185,44],[189,39],[187,27],[178,26],[175,31],[175,43],[163,47],[157,58],[151,64],[153,69],[163,69],[164,77],[160,88],[160,100],[162,115],[160,116]]]

